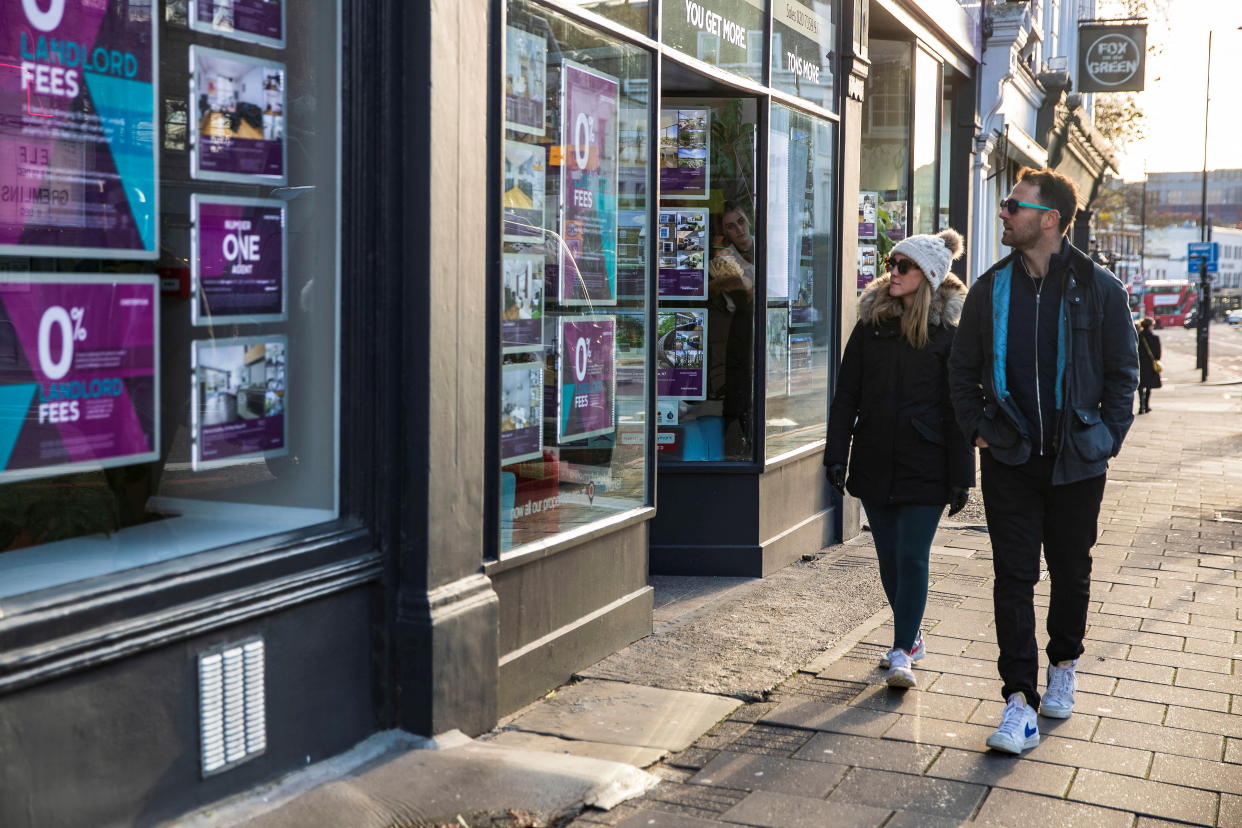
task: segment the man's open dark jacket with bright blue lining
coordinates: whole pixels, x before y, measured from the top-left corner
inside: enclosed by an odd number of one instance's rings
[[[1086,253],[1063,242],[1058,330],[1059,428],[1052,483],[1098,477],[1122,451],[1134,422],[1139,356],[1125,288]],[[966,438],[987,441],[992,458],[1020,466],[1031,457],[1031,427],[1013,405],[1005,370],[1009,290],[1015,252],[980,276],[961,313],[949,385]]]

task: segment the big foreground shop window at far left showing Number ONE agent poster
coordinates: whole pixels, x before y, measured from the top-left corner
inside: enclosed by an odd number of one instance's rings
[[[9,5],[0,596],[335,518],[338,4]]]

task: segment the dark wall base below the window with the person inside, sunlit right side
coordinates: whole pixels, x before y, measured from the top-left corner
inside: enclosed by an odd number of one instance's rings
[[[652,575],[764,577],[836,539],[821,452],[764,473],[661,470]]]

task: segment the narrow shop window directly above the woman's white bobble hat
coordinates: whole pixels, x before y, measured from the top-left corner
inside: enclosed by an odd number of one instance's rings
[[[871,41],[858,163],[858,290],[876,278],[888,251],[908,235],[910,51],[903,41]]]

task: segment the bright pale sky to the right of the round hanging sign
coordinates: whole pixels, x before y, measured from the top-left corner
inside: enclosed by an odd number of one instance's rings
[[[1148,61],[1146,88],[1139,94],[1148,113],[1146,138],[1119,154],[1122,178],[1143,179],[1144,161],[1150,173],[1202,168],[1208,31],[1207,169],[1242,169],[1242,0],[1169,0],[1167,20],[1167,31],[1148,26],[1148,43],[1163,43],[1164,52]]]

